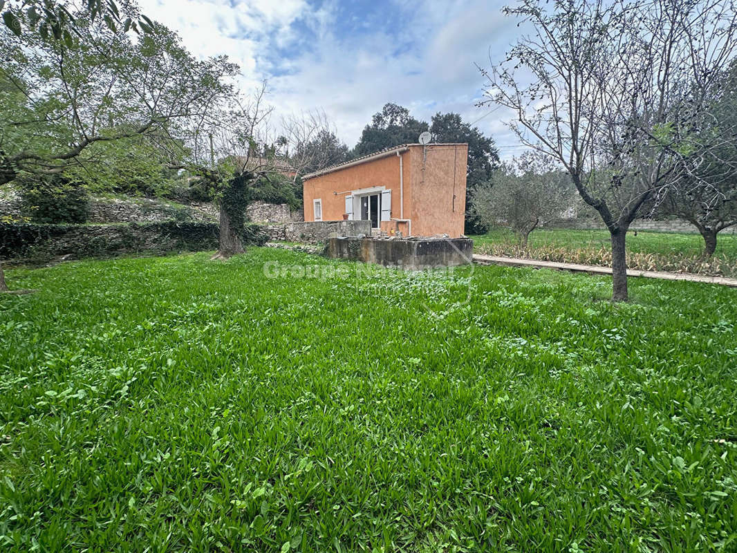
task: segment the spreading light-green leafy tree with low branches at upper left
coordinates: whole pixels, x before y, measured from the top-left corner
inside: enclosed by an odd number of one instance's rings
[[[66,19],[64,40],[0,29],[0,185],[80,167],[92,145],[175,135],[230,90],[226,58],[196,60],[158,24],[132,39],[92,15]]]

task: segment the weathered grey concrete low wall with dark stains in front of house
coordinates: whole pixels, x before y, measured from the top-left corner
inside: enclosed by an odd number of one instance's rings
[[[326,255],[411,270],[453,267],[472,262],[473,240],[335,237],[328,240]]]

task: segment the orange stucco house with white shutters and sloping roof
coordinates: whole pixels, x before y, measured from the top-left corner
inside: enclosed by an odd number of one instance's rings
[[[370,220],[375,232],[460,237],[467,144],[405,144],[304,177],[304,220]]]

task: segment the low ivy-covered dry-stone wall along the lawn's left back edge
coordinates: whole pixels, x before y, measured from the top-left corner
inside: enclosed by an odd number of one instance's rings
[[[39,225],[0,223],[0,260],[43,262],[55,257],[111,257],[217,249],[217,223],[121,223],[112,225]],[[246,226],[244,245],[262,245],[260,226]]]

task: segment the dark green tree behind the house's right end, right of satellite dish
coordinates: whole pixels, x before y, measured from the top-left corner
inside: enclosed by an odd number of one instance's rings
[[[499,163],[499,153],[494,139],[483,136],[477,127],[461,119],[460,114],[433,115],[430,132],[436,142],[465,142],[468,144],[468,167],[466,173],[466,234],[483,232],[483,223],[473,214],[471,202],[476,189],[492,178]]]

